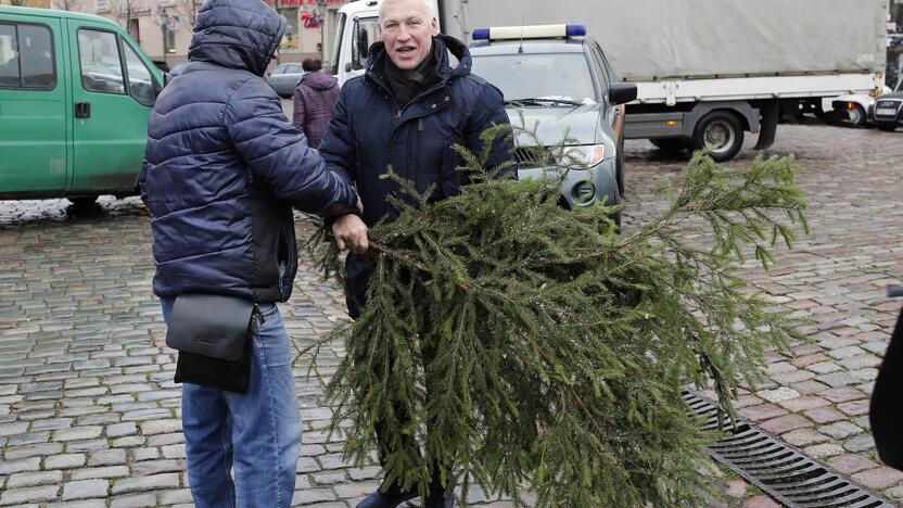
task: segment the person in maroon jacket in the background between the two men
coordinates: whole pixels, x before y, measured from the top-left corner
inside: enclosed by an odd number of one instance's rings
[[[318,59],[301,63],[306,73],[295,88],[292,123],[307,136],[310,148],[320,145],[326,127],[332,119],[332,110],[339,97],[339,80],[320,71],[323,64]]]

